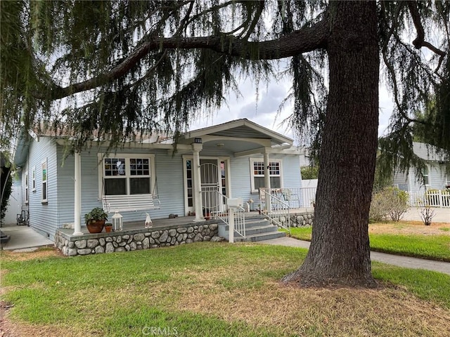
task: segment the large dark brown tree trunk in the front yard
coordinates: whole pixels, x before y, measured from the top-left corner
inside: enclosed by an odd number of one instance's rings
[[[311,248],[285,282],[374,286],[368,241],[378,131],[375,1],[330,1],[330,96]]]

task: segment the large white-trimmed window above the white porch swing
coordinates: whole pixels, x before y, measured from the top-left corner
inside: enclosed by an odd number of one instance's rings
[[[154,156],[120,154],[104,157],[101,195],[153,194]]]

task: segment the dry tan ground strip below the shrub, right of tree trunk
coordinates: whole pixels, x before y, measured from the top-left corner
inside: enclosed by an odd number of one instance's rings
[[[425,226],[421,221],[399,221],[398,223],[371,223],[369,234],[400,234],[400,235],[448,235],[450,223],[432,223]]]

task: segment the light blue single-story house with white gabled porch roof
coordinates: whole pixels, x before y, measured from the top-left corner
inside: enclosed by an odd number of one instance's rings
[[[148,139],[110,154],[94,143],[64,159],[67,138],[33,136],[20,138],[14,163],[30,227],[51,239],[65,224],[75,223],[77,232],[84,213],[102,207],[108,196],[132,201],[153,194],[160,201],[159,209],[148,210],[153,219],[195,213],[200,221],[212,202],[198,197],[207,190],[257,202],[259,187],[302,187],[301,152],[293,140],[248,119],[185,133],[175,152],[172,140]],[[125,222],[143,221],[143,212],[120,211]]]

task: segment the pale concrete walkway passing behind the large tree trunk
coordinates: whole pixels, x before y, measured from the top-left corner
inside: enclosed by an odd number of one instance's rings
[[[261,244],[276,244],[279,246],[300,247],[309,249],[309,241],[297,240],[292,237],[280,237],[259,242]],[[371,260],[387,263],[390,265],[398,265],[399,267],[432,270],[435,272],[443,272],[450,275],[450,263],[442,261],[425,260],[423,258],[409,258],[406,256],[392,255],[386,253],[378,253],[371,251]]]

